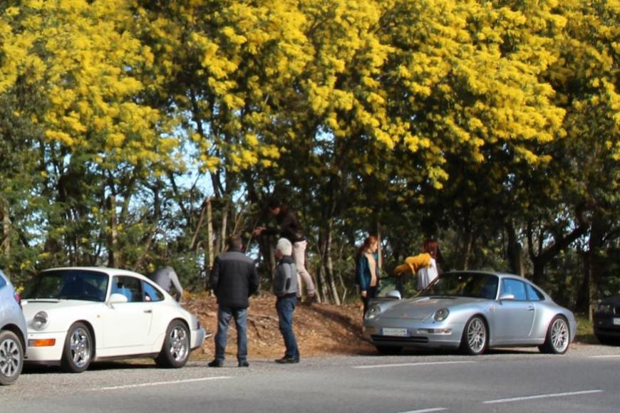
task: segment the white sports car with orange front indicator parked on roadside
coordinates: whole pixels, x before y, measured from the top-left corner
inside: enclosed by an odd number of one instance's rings
[[[83,372],[92,361],[153,357],[183,367],[201,347],[195,315],[145,276],[99,267],[53,268],[31,281],[22,298],[28,325],[27,364]]]

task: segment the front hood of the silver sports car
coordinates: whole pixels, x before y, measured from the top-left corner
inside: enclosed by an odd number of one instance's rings
[[[420,297],[402,300],[381,313],[381,318],[407,318],[410,320],[424,320],[433,315],[440,308],[451,308],[455,305],[476,303],[480,298],[467,297]]]

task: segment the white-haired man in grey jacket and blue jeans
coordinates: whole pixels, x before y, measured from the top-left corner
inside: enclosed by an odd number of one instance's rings
[[[286,238],[278,240],[276,258],[279,262],[274,276],[274,294],[277,296],[276,310],[280,333],[286,346],[284,357],[276,360],[281,364],[299,362],[299,348],[293,331],[293,312],[299,294],[299,284],[295,262],[291,258],[292,251],[291,241]]]

